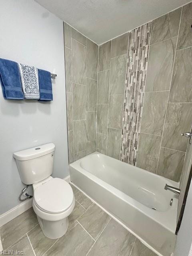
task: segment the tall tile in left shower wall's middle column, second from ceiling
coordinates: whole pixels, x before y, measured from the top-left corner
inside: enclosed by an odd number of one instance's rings
[[[86,47],[72,39],[72,79],[86,85]]]

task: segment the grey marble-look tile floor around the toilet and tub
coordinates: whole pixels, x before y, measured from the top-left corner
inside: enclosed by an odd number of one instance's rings
[[[36,214],[30,208],[0,228],[4,250],[22,250],[26,256],[156,256],[71,186],[76,205],[64,236],[59,239],[44,236]]]

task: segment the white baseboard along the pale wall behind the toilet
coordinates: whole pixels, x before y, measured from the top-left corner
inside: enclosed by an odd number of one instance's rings
[[[64,180],[66,180],[66,182],[70,182],[70,176],[67,176],[64,178]],[[17,206],[15,206],[14,208],[12,208],[11,210],[3,213],[2,215],[0,215],[0,227],[2,227],[4,224],[6,224],[7,222],[9,222],[10,220],[16,218],[17,216],[19,216],[20,214],[22,214],[23,212],[25,212],[26,210],[28,210],[29,208],[32,207],[32,201],[33,199],[27,199],[25,202],[22,202],[20,204],[18,204]],[[0,244],[1,244],[1,240],[0,240]]]

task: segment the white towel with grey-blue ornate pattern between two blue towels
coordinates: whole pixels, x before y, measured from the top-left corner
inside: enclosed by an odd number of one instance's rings
[[[39,99],[38,69],[18,63],[22,89],[26,99]]]

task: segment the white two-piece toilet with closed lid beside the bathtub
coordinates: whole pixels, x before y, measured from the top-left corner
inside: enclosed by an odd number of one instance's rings
[[[51,176],[54,151],[55,145],[48,143],[13,154],[22,182],[33,186],[33,209],[42,231],[52,239],[66,233],[68,216],[75,206],[71,186]]]

